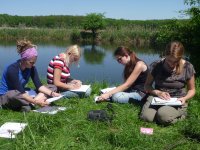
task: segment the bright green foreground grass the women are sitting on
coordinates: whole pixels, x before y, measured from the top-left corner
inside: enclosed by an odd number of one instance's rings
[[[112,103],[115,116],[111,123],[89,121],[89,110],[106,108],[107,102],[96,104],[93,100],[94,94],[105,86],[105,83],[93,84],[89,98],[57,101],[56,105],[65,106],[67,110],[55,115],[0,110],[0,125],[8,121],[28,123],[16,139],[0,138],[0,149],[199,149],[199,89],[190,101],[188,118],[163,127],[140,120],[140,106],[134,104]],[[140,127],[153,128],[153,135],[141,134]]]

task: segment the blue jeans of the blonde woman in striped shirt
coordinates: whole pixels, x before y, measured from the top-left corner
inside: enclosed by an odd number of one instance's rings
[[[65,98],[83,98],[89,97],[92,89],[88,88],[86,92],[74,92],[74,91],[65,91],[61,94],[64,95]]]

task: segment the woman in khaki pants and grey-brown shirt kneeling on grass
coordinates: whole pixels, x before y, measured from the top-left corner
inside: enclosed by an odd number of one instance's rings
[[[183,59],[183,54],[182,43],[170,42],[166,46],[165,57],[151,64],[145,89],[152,96],[143,106],[141,119],[168,125],[185,118],[188,100],[195,95],[195,70],[190,62]],[[155,88],[152,87],[153,82]],[[153,96],[164,100],[175,97],[182,105],[153,106]]]

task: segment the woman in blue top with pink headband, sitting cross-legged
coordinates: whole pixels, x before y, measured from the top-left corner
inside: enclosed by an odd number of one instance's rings
[[[21,58],[6,67],[0,83],[0,106],[16,111],[29,111],[32,104],[48,105],[47,97],[56,97],[56,86],[43,86],[40,82],[35,63],[36,46],[28,40],[17,41],[17,52]],[[26,92],[26,84],[32,79],[37,95],[33,98]]]

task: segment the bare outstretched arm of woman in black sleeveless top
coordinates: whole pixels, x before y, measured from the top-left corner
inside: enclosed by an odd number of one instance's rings
[[[100,99],[108,99],[109,97],[111,97],[113,94],[115,94],[117,92],[125,91],[135,82],[135,80],[138,78],[138,76],[141,74],[141,72],[145,71],[146,69],[147,69],[147,66],[145,65],[144,62],[142,62],[142,61],[137,62],[135,68],[133,69],[133,71],[130,74],[130,76],[128,77],[128,79],[123,84],[116,87],[115,89],[113,89],[105,94],[102,94],[100,96]]]

